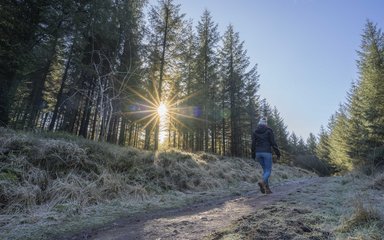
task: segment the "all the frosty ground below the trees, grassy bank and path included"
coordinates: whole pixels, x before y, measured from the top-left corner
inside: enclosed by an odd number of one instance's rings
[[[114,239],[127,227],[139,239],[384,235],[384,175],[319,178],[275,164],[274,193],[262,195],[255,190],[261,169],[251,159],[2,128],[0,149],[0,239]],[[196,226],[200,235],[191,232]]]

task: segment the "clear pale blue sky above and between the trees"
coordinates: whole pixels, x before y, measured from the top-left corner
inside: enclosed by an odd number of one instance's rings
[[[152,2],[152,1],[151,1]],[[175,0],[194,24],[205,9],[224,33],[232,24],[258,64],[262,98],[289,132],[318,135],[358,77],[367,19],[384,26],[384,0]]]

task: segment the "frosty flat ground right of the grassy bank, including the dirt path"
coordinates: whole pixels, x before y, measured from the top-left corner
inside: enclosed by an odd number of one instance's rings
[[[382,180],[381,180],[382,181]],[[120,218],[59,239],[382,239],[382,189],[356,176],[311,177]]]

